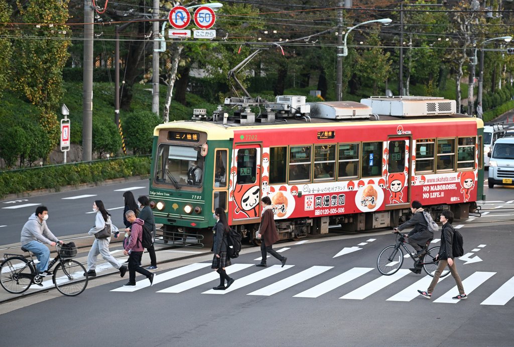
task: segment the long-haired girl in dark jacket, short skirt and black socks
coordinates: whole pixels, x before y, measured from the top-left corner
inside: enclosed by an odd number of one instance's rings
[[[223,208],[217,207],[214,210],[214,218],[216,219],[216,224],[212,228],[212,232],[214,233],[212,246],[214,257],[212,258],[211,268],[216,269],[216,272],[219,274],[219,285],[212,289],[215,291],[224,291],[235,281],[233,278],[229,277],[225,271],[225,267],[232,265],[230,258],[227,257],[227,236],[230,226],[228,225],[227,215]],[[227,280],[227,286],[225,286],[225,280]]]

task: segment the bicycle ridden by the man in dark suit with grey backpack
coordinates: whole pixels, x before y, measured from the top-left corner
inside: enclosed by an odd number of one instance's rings
[[[414,257],[414,254],[409,252],[407,249],[407,246],[405,245],[405,239],[399,232],[394,232],[394,234],[397,234],[396,236],[396,244],[387,246],[380,252],[377,258],[377,269],[378,271],[385,276],[391,276],[395,274],[403,264],[403,250],[401,250],[400,247],[403,247],[405,249],[405,252],[414,260],[414,265],[423,265],[423,268],[425,269],[425,272],[429,275],[434,277],[434,273],[437,269],[437,265],[439,264],[439,260],[435,259],[435,256],[439,254],[439,248],[438,246],[432,247],[428,249],[430,242],[432,239],[429,239],[427,241],[427,244],[425,247],[423,247],[423,253],[421,257],[423,257],[423,261],[420,261],[421,259],[416,259]],[[425,253],[425,254],[424,254]],[[440,277],[445,277],[450,273],[450,268],[446,267],[441,274]]]

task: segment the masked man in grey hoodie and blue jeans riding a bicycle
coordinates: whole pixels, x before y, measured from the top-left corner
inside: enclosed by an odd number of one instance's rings
[[[36,265],[36,270],[41,276],[49,276],[48,262],[50,260],[50,249],[44,244],[55,246],[56,242],[62,244],[57,237],[55,237],[48,226],[46,221],[48,219],[48,208],[46,206],[38,206],[35,209],[29,220],[22,228],[21,240],[22,247],[30,250],[39,263]]]

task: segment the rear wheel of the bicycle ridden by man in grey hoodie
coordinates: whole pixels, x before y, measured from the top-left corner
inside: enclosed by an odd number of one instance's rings
[[[34,268],[23,257],[7,258],[0,265],[0,284],[12,294],[28,290],[34,275]]]

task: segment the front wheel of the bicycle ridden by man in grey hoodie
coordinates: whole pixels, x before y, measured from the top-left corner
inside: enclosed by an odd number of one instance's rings
[[[66,296],[76,296],[84,292],[87,286],[86,269],[76,260],[61,260],[53,272],[53,284],[57,290]]]

